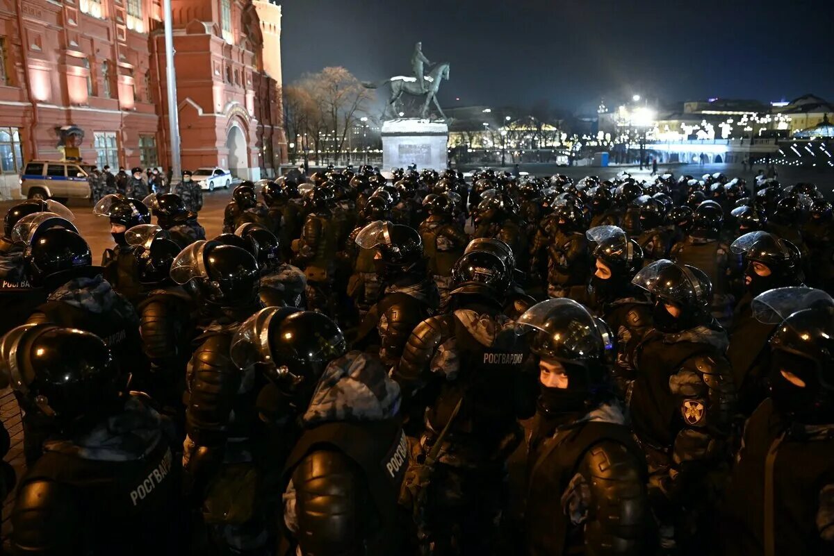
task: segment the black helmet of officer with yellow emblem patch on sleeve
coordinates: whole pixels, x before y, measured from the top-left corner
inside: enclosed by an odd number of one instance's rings
[[[631,283],[651,295],[655,303],[652,315],[655,328],[661,332],[690,330],[708,319],[712,284],[695,266],[661,259],[638,272]],[[673,315],[667,304],[674,305],[680,314]]]

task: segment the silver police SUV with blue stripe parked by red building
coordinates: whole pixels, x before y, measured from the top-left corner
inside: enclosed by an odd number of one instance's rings
[[[29,161],[20,175],[20,192],[27,199],[88,199],[87,177],[94,167],[73,161]]]

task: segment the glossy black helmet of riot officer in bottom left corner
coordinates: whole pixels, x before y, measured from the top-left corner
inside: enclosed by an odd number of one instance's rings
[[[113,410],[126,383],[97,335],[55,325],[23,325],[0,340],[0,368],[27,412],[63,432]]]

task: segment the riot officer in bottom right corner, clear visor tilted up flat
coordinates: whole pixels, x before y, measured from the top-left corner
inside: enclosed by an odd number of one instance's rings
[[[834,300],[780,288],[753,300],[770,340],[770,397],[747,420],[716,554],[834,550]]]

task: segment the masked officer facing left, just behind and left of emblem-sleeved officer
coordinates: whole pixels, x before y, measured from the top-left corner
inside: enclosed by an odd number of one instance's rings
[[[592,306],[610,326],[616,340],[613,370],[619,393],[625,395],[635,378],[636,347],[651,330],[651,303],[646,292],[631,283],[643,267],[643,250],[617,226],[597,226],[586,236],[594,246]]]

